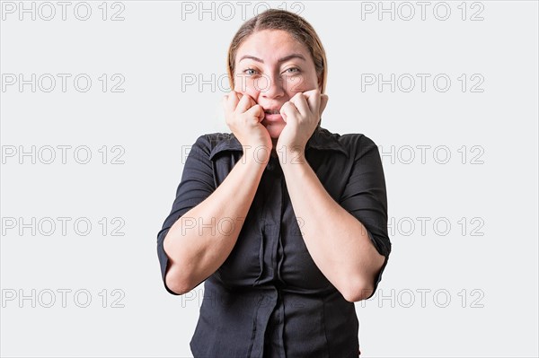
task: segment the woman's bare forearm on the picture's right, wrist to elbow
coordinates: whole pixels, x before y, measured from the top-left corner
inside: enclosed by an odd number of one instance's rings
[[[365,226],[333,200],[305,156],[282,168],[314,263],[347,301],[367,298],[384,256],[376,251]]]

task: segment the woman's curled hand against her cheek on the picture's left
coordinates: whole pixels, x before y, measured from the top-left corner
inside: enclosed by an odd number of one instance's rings
[[[243,145],[243,152],[248,150],[260,157],[264,151],[259,148],[265,147],[270,159],[271,137],[266,127],[261,124],[264,119],[261,105],[248,94],[231,91],[223,98],[223,107],[226,125]]]

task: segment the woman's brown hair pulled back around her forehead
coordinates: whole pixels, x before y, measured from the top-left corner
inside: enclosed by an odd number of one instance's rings
[[[327,78],[327,60],[320,38],[316,34],[316,31],[314,31],[313,26],[309,22],[306,22],[304,18],[296,13],[278,9],[269,9],[263,13],[259,13],[252,19],[244,22],[242,27],[234,35],[234,39],[232,39],[228,48],[227,71],[230,89],[234,90],[235,57],[238,48],[240,48],[245,39],[253,33],[262,30],[287,31],[299,43],[305,45],[305,48],[307,48],[313,58],[314,68],[318,75],[318,81],[321,84],[320,92],[323,93]]]

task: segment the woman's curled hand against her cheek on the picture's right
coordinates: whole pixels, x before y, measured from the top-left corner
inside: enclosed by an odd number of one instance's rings
[[[305,145],[318,125],[328,99],[326,94],[314,89],[297,92],[283,104],[280,114],[287,125],[278,136],[276,150],[279,156],[305,153]]]

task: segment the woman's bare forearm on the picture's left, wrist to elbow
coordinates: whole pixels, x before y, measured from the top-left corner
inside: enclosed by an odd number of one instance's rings
[[[228,258],[265,167],[244,155],[206,200],[172,225],[163,249],[169,257],[166,284],[173,292],[188,293]]]

